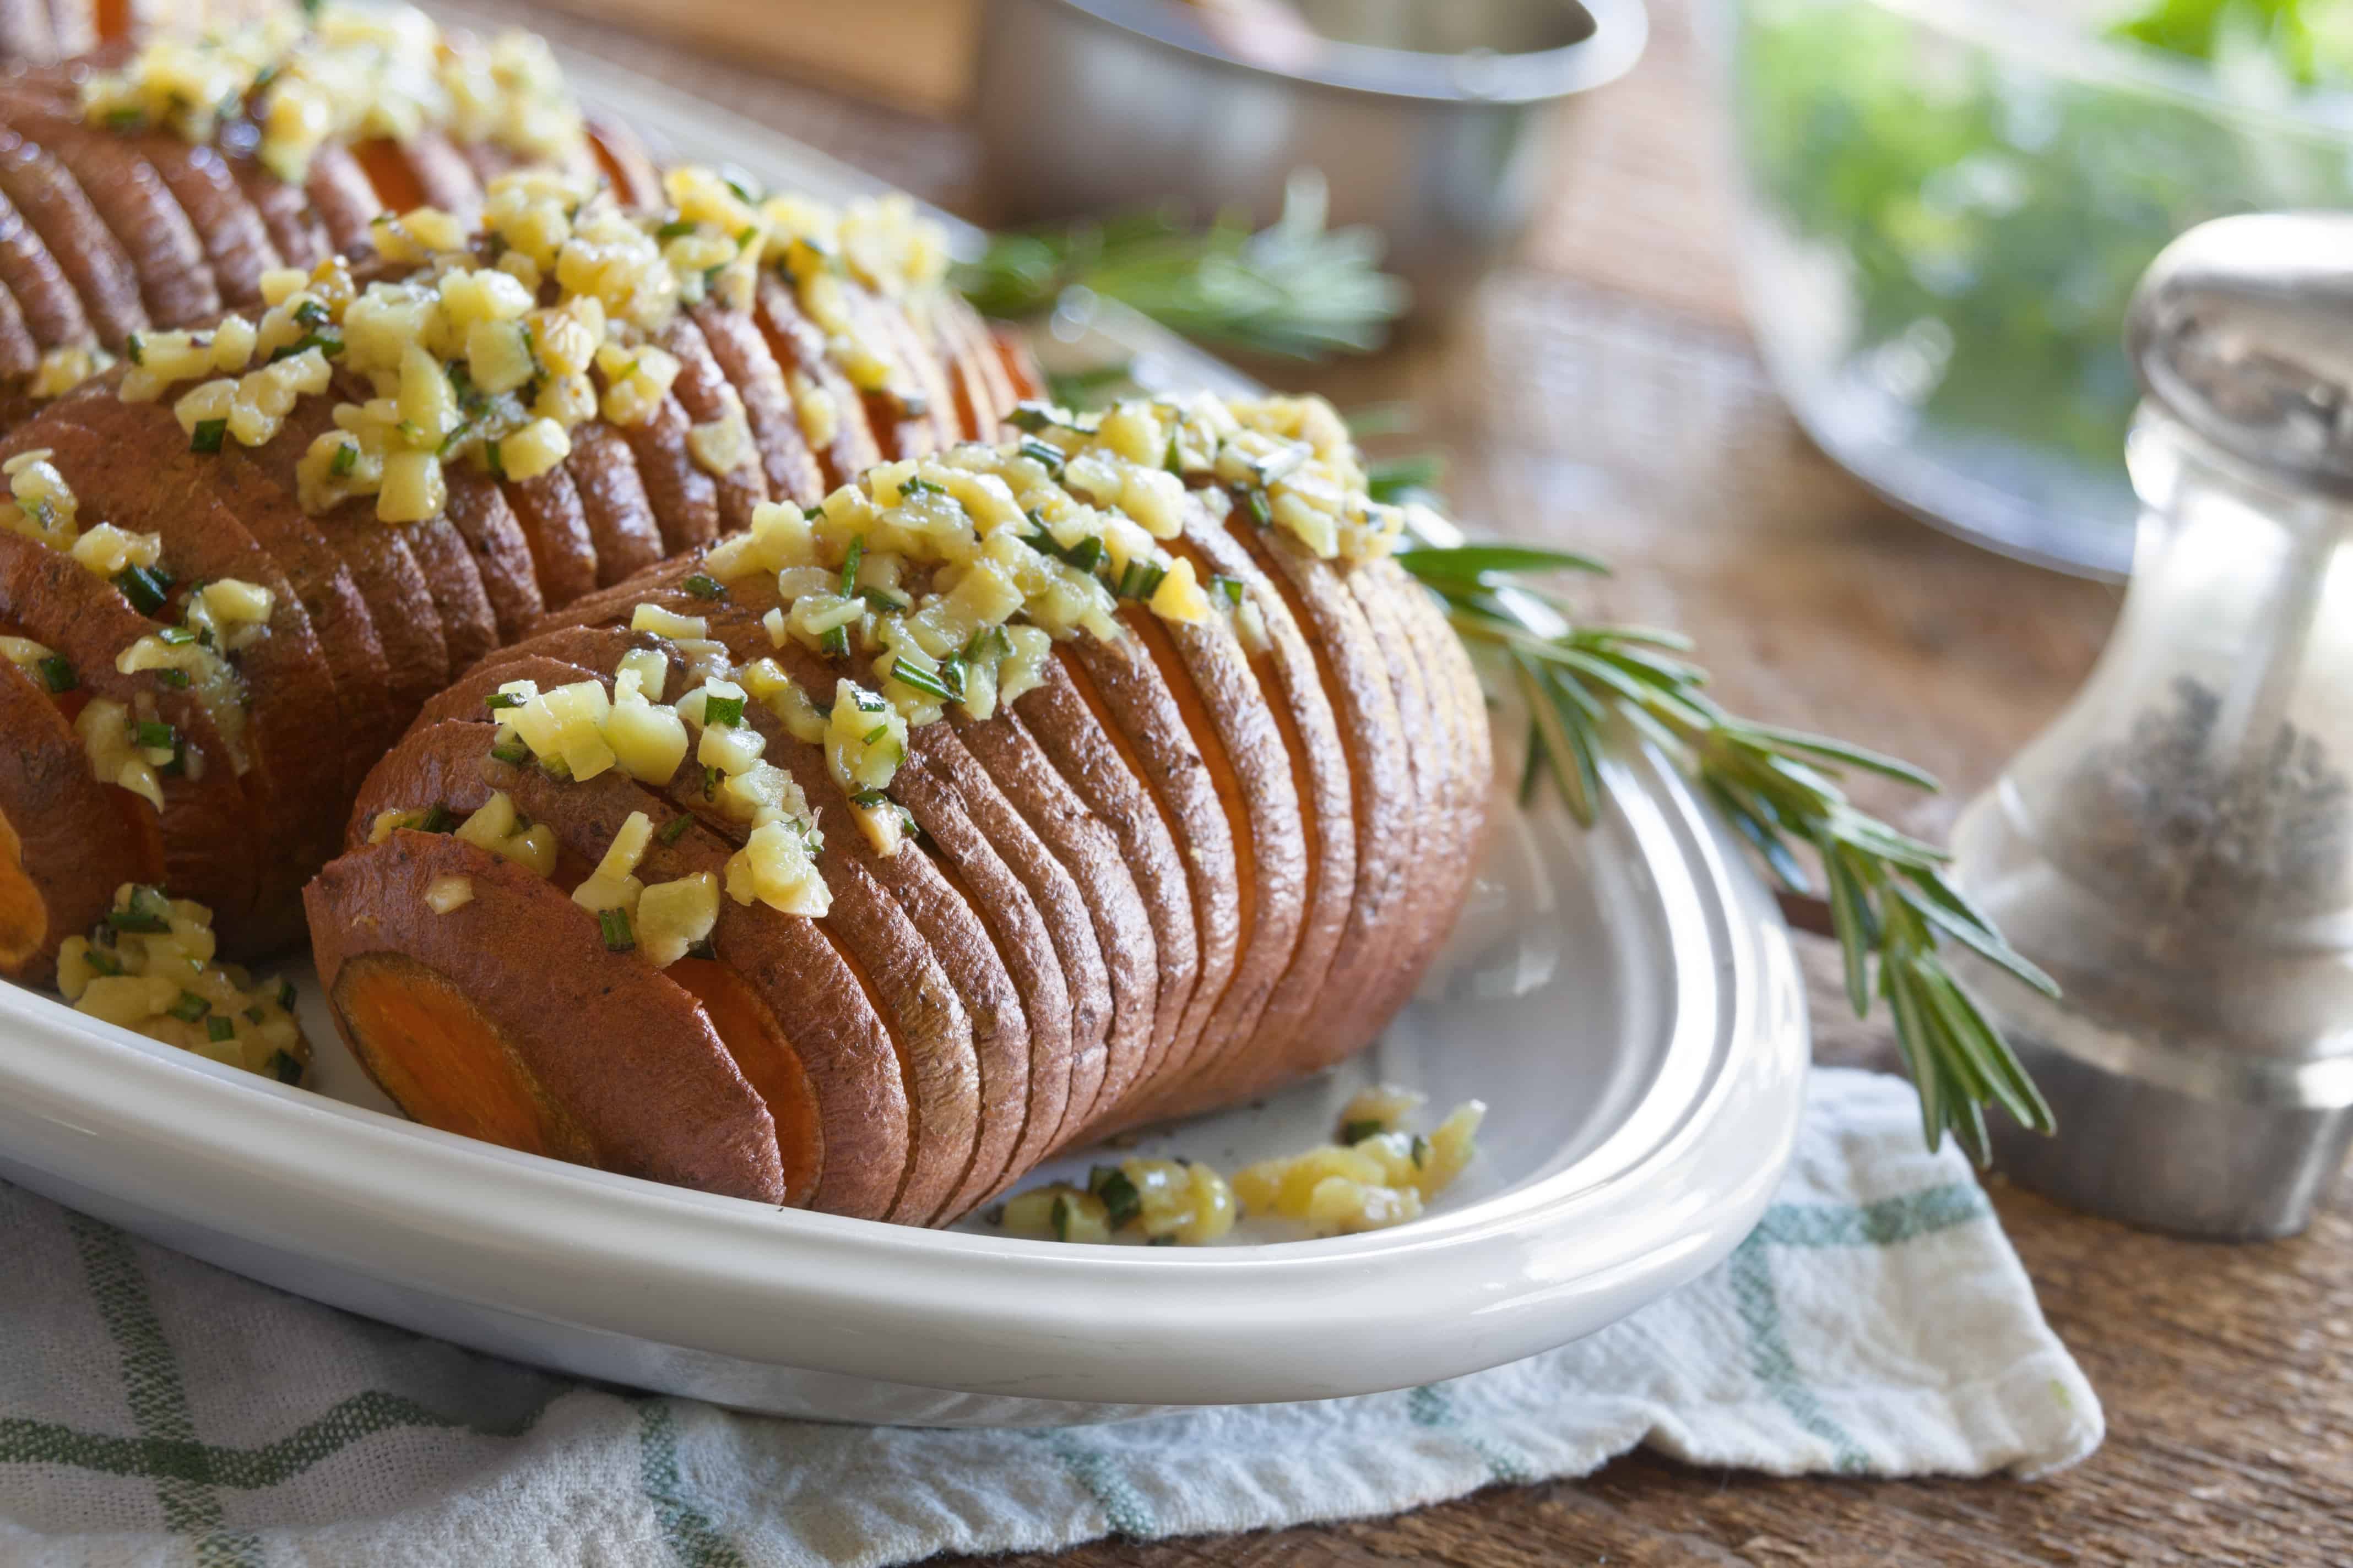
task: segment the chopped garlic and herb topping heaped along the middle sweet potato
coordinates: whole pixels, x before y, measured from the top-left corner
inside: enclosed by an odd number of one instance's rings
[[[656,339],[704,299],[748,306],[765,266],[795,280],[845,374],[889,390],[892,362],[866,341],[847,280],[899,296],[939,284],[941,235],[904,197],[833,212],[753,200],[692,167],[666,186],[666,214],[628,214],[591,179],[518,172],[489,183],[480,233],[433,207],[381,216],[376,252],[414,273],[365,289],[339,259],[268,273],[259,324],[231,315],[209,331],[132,336],[120,395],[146,402],[198,381],[172,411],[191,447],[219,451],[273,440],[299,397],[339,378],[365,383],[304,451],[299,498],[325,512],[374,496],[381,522],[421,522],[447,503],[445,463],[532,480],[569,456],[579,423],[652,418],[680,369]],[[814,395],[802,388],[805,423]],[[711,473],[744,463],[741,407],[694,425],[687,447]]]

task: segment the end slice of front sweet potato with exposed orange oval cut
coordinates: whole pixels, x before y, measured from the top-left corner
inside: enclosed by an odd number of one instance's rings
[[[464,877],[445,914],[426,889]],[[428,1126],[605,1171],[786,1201],[776,1124],[708,1016],[595,917],[464,839],[395,832],[306,891],[353,1056]],[[515,943],[529,961],[515,959]]]

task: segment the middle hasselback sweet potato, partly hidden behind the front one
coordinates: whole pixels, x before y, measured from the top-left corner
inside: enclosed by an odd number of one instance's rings
[[[379,273],[395,275],[391,268]],[[944,292],[885,299],[852,287],[852,296],[868,320],[901,322],[892,341],[920,346],[925,357],[939,360],[932,378],[941,383],[967,374],[955,355],[995,353],[986,329]],[[791,301],[793,289],[779,287],[776,299]],[[122,882],[125,844],[155,835],[160,865],[148,879],[162,875],[176,896],[209,905],[228,957],[282,947],[299,936],[301,884],[334,853],[341,813],[367,766],[435,691],[536,616],[640,571],[671,548],[741,527],[753,505],[769,498],[814,505],[824,498],[826,477],[807,444],[791,447],[779,437],[774,449],[781,456],[769,463],[767,449],[746,442],[741,461],[718,477],[694,451],[699,425],[736,411],[748,425],[758,397],[746,397],[736,378],[765,374],[781,386],[772,343],[798,329],[798,317],[779,322],[758,301],[741,308],[704,303],[692,322],[680,315],[666,336],[687,348],[682,362],[689,369],[661,395],[652,418],[631,428],[588,418],[572,430],[569,456],[529,480],[449,465],[440,512],[402,524],[381,522],[367,496],[327,508],[304,505],[301,458],[313,440],[332,437],[332,397],[299,397],[278,435],[256,447],[228,440],[219,451],[193,449],[169,397],[125,400],[132,364],[106,369],[40,404],[0,440],[0,461],[47,454],[80,498],[80,524],[87,529],[104,520],[127,534],[153,534],[160,541],[158,571],[169,585],[158,604],[134,611],[118,585],[66,562],[68,571],[87,578],[71,583],[75,599],[108,602],[104,625],[113,642],[96,639],[89,623],[75,623],[64,592],[0,609],[0,618],[16,623],[12,635],[66,649],[78,670],[104,665],[111,672],[136,635],[172,632],[191,588],[205,581],[235,578],[266,588],[271,616],[264,637],[226,656],[249,715],[254,766],[235,776],[224,769],[205,780],[165,776],[162,811],[125,795],[120,809],[75,818],[82,837],[104,830],[101,837],[113,842],[92,839],[80,858],[19,858],[21,875],[5,889],[12,907],[0,912],[0,922],[40,936],[0,943],[0,973],[45,978],[56,943],[75,931],[78,914],[66,919],[64,912],[104,910]],[[704,348],[713,341],[729,343],[729,355]],[[814,355],[807,360],[812,374],[833,367],[840,386],[852,386],[840,369],[845,348],[824,334],[809,334],[795,353]],[[729,367],[736,378],[729,378]],[[367,388],[348,374],[336,376],[329,393],[367,397]],[[711,418],[689,414],[687,402]],[[993,435],[1009,407],[993,395],[953,402],[955,437]],[[791,402],[786,414],[798,433],[800,414]],[[899,451],[899,425],[875,430],[861,395],[828,400],[826,416],[838,442],[859,451]],[[967,425],[967,418],[976,423]],[[784,480],[781,487],[772,484],[772,473]],[[14,543],[28,559],[45,552],[26,538]],[[54,550],[47,555],[54,557]],[[9,724],[9,736],[35,750],[54,748],[54,726],[26,724],[24,733]],[[174,733],[186,738],[193,731]],[[122,795],[113,783],[94,788]],[[188,792],[202,792],[212,804],[184,811],[179,797]],[[33,818],[49,811],[52,799],[54,790],[31,773],[0,776],[0,823],[19,844],[47,842],[42,835],[49,830],[35,827]],[[141,811],[155,820],[141,823]]]

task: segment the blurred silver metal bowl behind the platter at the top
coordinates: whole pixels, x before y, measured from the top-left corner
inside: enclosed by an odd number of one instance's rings
[[[1445,308],[1527,230],[1569,99],[1642,54],[1640,0],[1294,0],[1327,40],[1297,71],[1219,49],[1174,0],[993,0],[984,183],[1005,223],[1174,197],[1268,223],[1320,169],[1332,223]]]

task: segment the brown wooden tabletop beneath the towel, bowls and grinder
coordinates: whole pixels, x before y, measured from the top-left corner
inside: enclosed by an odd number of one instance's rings
[[[1948,795],[1871,804],[1939,837],[2075,689],[2118,592],[1908,522],[1805,442],[1741,324],[1692,21],[1682,0],[1652,12],[1647,59],[1577,127],[1551,219],[1457,329],[1365,362],[1259,369],[1341,404],[1412,397],[1473,529],[1607,555],[1617,576],[1593,607],[1697,635],[1734,708],[1927,764]],[[974,150],[953,122],[607,26],[525,19],[967,207]],[[894,47],[925,61],[913,80],[936,85],[967,42],[911,21]],[[1892,1060],[1885,1030],[1845,1009],[1828,943],[1802,940],[1817,1056]],[[2266,1246],[2139,1234],[1998,1178],[1993,1199],[2108,1410],[2106,1446],[2064,1476],[1777,1481],[1633,1453],[1584,1481],[1489,1488],[1402,1519],[993,1561],[2353,1563],[2353,1180],[2306,1237]]]

